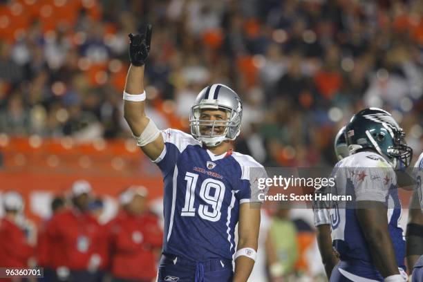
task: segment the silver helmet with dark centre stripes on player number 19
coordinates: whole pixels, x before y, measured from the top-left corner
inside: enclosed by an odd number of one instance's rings
[[[200,120],[202,110],[221,110],[227,113],[227,120]],[[238,94],[223,84],[213,84],[204,88],[197,96],[189,114],[191,135],[207,147],[216,147],[225,140],[235,140],[239,135],[243,105]],[[200,127],[211,126],[208,134],[201,133]],[[225,126],[221,134],[215,134],[214,128]]]

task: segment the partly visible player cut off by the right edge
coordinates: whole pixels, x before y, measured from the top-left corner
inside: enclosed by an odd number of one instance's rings
[[[408,215],[406,255],[408,267],[414,265],[411,281],[418,282],[423,281],[423,153],[414,167],[416,189],[413,191]],[[419,205],[420,209],[416,208]]]

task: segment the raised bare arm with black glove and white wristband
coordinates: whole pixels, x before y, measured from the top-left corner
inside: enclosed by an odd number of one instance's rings
[[[144,63],[150,51],[151,25],[144,35],[129,35],[131,66],[126,75],[124,90],[124,118],[142,151],[156,160],[164,149],[164,141],[156,125],[145,114]]]

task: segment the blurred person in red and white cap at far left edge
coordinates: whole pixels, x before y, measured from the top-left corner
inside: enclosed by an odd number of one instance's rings
[[[1,198],[5,215],[0,220],[0,266],[28,267],[34,248],[19,223],[22,221],[23,199],[16,191],[8,191]]]

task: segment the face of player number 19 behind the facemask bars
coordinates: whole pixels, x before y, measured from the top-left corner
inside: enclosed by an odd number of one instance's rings
[[[201,110],[200,133],[202,135],[222,135],[227,126],[227,113],[220,110]],[[205,120],[210,122],[204,122]],[[213,126],[214,124],[214,126]]]

